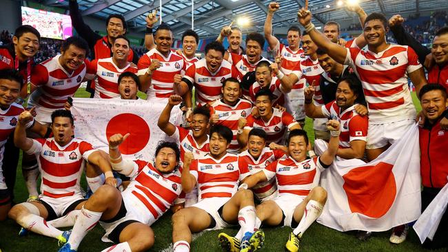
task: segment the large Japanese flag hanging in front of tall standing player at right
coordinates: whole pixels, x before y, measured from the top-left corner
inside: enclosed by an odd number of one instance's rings
[[[316,154],[327,143],[316,140]],[[335,160],[320,175],[327,202],[318,219],[338,231],[387,231],[420,216],[420,148],[418,127],[403,134],[369,163]]]

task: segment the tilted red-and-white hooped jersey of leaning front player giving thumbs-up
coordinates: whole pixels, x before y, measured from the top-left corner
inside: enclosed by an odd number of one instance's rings
[[[134,198],[134,207],[157,219],[181,195],[181,171],[174,169],[170,174],[163,174],[145,160],[134,160],[132,165],[131,182],[123,197]]]

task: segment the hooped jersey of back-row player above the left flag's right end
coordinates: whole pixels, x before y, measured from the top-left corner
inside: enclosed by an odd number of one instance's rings
[[[169,98],[174,94],[174,75],[183,74],[187,64],[182,56],[170,51],[165,57],[156,48],[153,48],[139,59],[137,67],[139,67],[139,75],[145,74],[147,67],[150,67],[151,61],[158,59],[161,67],[152,73],[152,81],[150,88],[146,90],[147,100],[150,98]]]

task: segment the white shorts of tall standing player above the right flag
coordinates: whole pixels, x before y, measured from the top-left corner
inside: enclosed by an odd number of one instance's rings
[[[367,129],[367,145],[365,148],[378,149],[385,147],[389,143],[393,144],[414,124],[414,119],[404,119],[383,124],[369,123],[369,129]]]

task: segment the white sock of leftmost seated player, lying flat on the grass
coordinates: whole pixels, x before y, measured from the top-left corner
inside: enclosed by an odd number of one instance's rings
[[[63,233],[63,231],[60,231],[59,229],[48,224],[41,216],[37,216],[35,214],[28,214],[27,216],[18,218],[17,223],[19,223],[22,227],[33,231],[34,233],[39,233],[40,235],[45,235],[52,238],[57,238]]]

